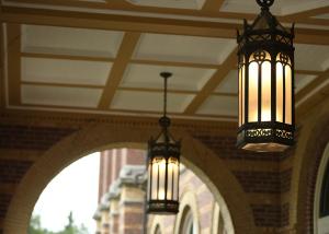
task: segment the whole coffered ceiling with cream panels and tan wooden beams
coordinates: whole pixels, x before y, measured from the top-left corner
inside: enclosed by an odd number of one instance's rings
[[[236,121],[236,30],[253,0],[1,1],[2,107]],[[276,0],[296,23],[296,107],[329,93],[329,1]]]

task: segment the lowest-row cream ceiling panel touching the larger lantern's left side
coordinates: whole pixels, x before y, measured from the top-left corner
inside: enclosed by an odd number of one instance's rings
[[[238,97],[211,95],[196,114],[238,116]]]

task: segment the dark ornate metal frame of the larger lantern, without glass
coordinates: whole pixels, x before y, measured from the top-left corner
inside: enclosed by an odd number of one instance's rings
[[[249,25],[243,21],[243,31],[237,32],[238,42],[238,69],[239,69],[239,128],[237,147],[251,151],[283,151],[294,144],[295,131],[295,100],[294,100],[294,24],[288,31],[284,28],[274,15],[270,7],[274,0],[257,0],[261,7],[261,13]],[[270,55],[270,59],[266,57]],[[258,62],[258,96],[257,96],[257,121],[249,121],[249,69],[251,56]],[[271,63],[271,101],[270,120],[262,120],[262,62]],[[279,59],[279,60],[277,60]],[[276,116],[276,63],[283,66],[283,103],[282,121]],[[286,87],[285,66],[291,67],[291,122],[286,122]],[[253,91],[252,91],[253,92]],[[287,92],[288,93],[288,92]],[[264,101],[265,102],[265,101]]]

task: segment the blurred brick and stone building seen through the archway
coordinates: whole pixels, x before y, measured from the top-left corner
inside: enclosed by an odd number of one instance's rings
[[[234,233],[209,188],[188,167],[180,168],[180,212],[145,217],[146,152],[114,149],[101,152],[98,234]],[[227,218],[229,219],[229,218]]]

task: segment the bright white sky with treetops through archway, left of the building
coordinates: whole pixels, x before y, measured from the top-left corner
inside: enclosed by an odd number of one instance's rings
[[[34,206],[27,233],[95,233],[100,153],[83,156],[56,175]]]

